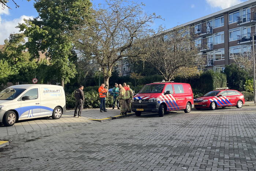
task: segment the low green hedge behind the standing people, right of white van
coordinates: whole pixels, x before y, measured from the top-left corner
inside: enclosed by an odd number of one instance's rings
[[[85,102],[84,108],[100,108],[100,97],[99,93],[91,90],[85,93]],[[106,97],[106,107],[112,107],[113,104],[113,96]],[[75,108],[75,97],[74,92],[66,95],[66,108],[73,109]]]

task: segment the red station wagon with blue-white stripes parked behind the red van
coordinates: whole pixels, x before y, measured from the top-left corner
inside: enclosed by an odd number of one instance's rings
[[[206,93],[203,97],[194,99],[196,109],[236,106],[241,108],[245,103],[244,95],[237,90],[228,90],[228,88],[218,88]]]

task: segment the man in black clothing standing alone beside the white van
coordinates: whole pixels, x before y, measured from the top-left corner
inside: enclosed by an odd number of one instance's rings
[[[78,117],[81,117],[81,113],[82,113],[82,109],[84,107],[84,101],[85,101],[85,97],[84,97],[84,86],[80,85],[79,89],[75,90],[75,113],[74,113],[74,117],[77,116],[77,108],[78,108]]]

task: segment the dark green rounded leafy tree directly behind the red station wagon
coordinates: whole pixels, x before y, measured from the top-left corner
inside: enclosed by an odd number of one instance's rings
[[[249,78],[248,72],[237,64],[225,66],[224,73],[227,75],[227,83],[230,89],[242,91],[244,84]]]

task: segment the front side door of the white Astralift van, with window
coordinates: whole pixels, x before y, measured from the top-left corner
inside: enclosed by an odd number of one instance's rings
[[[40,94],[38,92],[38,87],[33,87],[32,89],[26,91],[21,97],[21,114],[20,119],[30,119],[33,117],[40,116],[41,104],[40,104]]]

